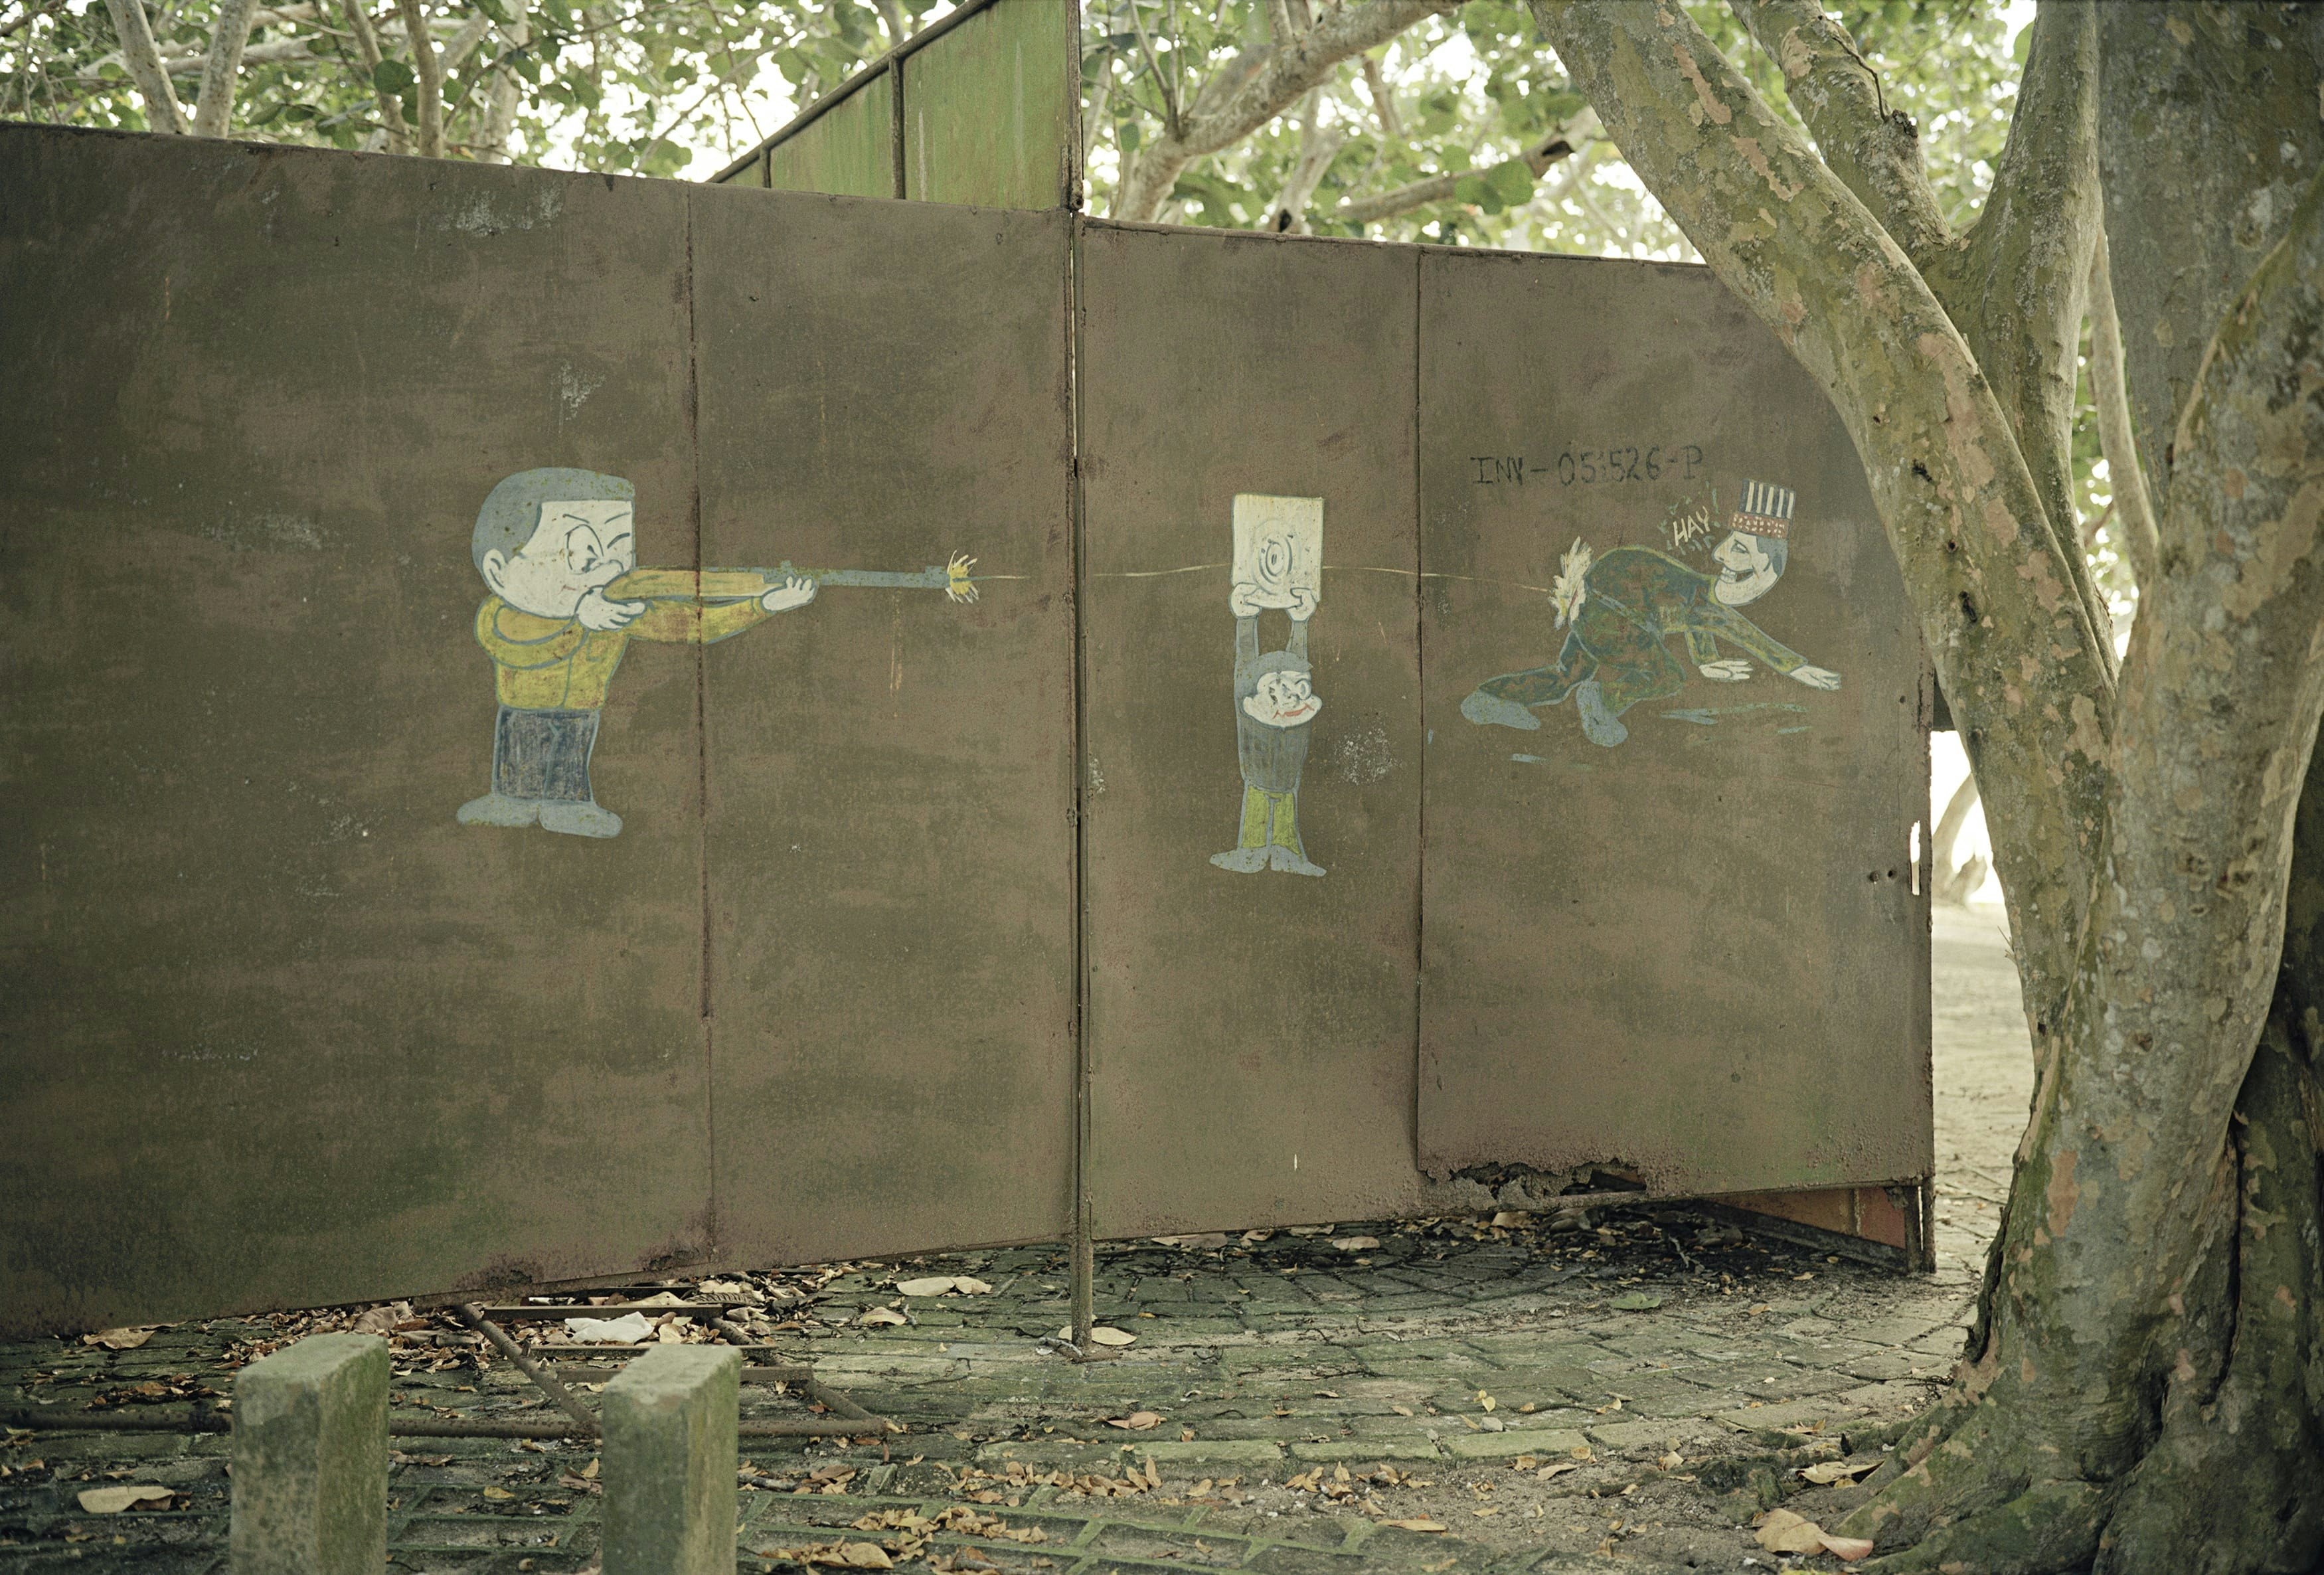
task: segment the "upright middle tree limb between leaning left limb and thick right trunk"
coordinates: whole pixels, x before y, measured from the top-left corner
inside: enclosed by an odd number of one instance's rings
[[[2008,413],[2061,544],[2080,539],[2073,388],[2101,218],[2096,9],[2043,0],[1985,211],[1924,269]],[[2089,560],[2071,553],[2066,567],[2092,623],[2110,630]],[[2113,671],[2113,639],[2103,646]]]

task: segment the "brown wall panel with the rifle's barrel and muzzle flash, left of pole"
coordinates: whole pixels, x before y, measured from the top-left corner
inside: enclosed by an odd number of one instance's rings
[[[706,560],[997,576],[825,585],[704,653],[744,1261],[1071,1222],[1069,242],[1064,214],[697,202]]]

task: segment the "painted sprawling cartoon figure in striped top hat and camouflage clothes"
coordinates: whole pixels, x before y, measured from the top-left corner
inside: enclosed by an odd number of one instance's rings
[[[1618,546],[1592,560],[1590,546],[1576,541],[1550,595],[1557,627],[1571,623],[1557,662],[1487,678],[1459,713],[1471,722],[1532,729],[1541,727],[1534,706],[1555,706],[1571,695],[1583,734],[1615,748],[1629,739],[1624,711],[1687,685],[1687,669],[1664,643],[1671,634],[1687,639],[1694,669],[1715,683],[1750,678],[1750,660],[1759,660],[1810,690],[1841,688],[1836,671],[1813,667],[1736,611],[1783,578],[1792,551],[1792,504],[1789,488],[1745,481],[1743,506],[1710,551],[1717,576],[1650,546]],[[1720,641],[1743,655],[1722,657]]]

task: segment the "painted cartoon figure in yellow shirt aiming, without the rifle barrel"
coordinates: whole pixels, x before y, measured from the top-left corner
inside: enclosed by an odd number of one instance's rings
[[[500,718],[493,790],[460,806],[460,825],[618,836],[621,815],[597,804],[588,767],[630,641],[709,646],[813,602],[816,583],[802,576],[716,606],[693,595],[609,599],[637,567],[634,499],[621,476],[586,469],[518,472],[483,499],[472,558],[493,595],[476,609],[476,643],[493,657]]]

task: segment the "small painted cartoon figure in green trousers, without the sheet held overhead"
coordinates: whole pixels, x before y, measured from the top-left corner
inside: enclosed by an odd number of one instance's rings
[[[1257,583],[1239,583],[1227,597],[1234,613],[1234,755],[1243,767],[1243,834],[1211,862],[1246,876],[1262,869],[1320,876],[1322,866],[1299,843],[1299,771],[1306,767],[1308,725],[1322,711],[1306,655],[1318,595],[1311,585],[1290,588],[1290,641],[1264,655],[1260,595]]]

